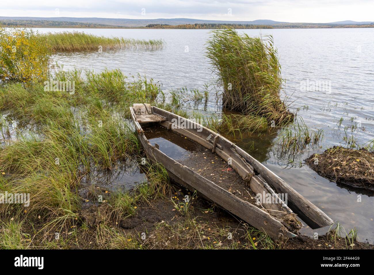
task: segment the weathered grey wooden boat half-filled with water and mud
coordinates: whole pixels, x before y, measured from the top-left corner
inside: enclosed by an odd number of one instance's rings
[[[162,164],[172,180],[191,191],[196,190],[206,199],[272,238],[295,237],[304,223],[312,229],[333,223],[312,202],[220,134],[150,104],[134,104],[130,111],[148,158]],[[158,129],[155,127],[170,132],[174,138],[180,136],[189,140],[189,146],[195,148],[191,152],[186,151],[189,153],[189,161],[179,160],[172,154],[165,153],[165,149],[172,143],[164,144],[164,149],[157,142],[152,144],[148,137],[156,131],[154,129]],[[201,163],[197,163],[197,159]],[[211,165],[228,168],[217,174],[217,167]],[[264,196],[259,200],[261,194]],[[264,199],[265,195],[272,200]]]

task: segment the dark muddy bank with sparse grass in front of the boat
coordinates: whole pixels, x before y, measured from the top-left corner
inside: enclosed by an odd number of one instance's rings
[[[178,188],[177,186],[175,186]],[[180,200],[188,190],[177,189],[170,196]],[[174,192],[173,191],[173,192]],[[105,206],[91,208],[95,215]],[[116,223],[101,217],[88,225],[87,213],[74,227],[67,227],[55,241],[50,234],[50,248],[117,248],[117,249],[373,249],[374,245],[346,238],[333,239],[323,235],[298,236],[273,241],[248,224],[196,197],[183,213],[175,209],[171,201],[156,199],[150,204],[138,206],[137,213]],[[97,216],[96,216],[97,217]],[[30,228],[30,231],[32,228]],[[111,233],[110,233],[111,232]],[[112,234],[114,233],[114,234]],[[32,236],[32,235],[31,235]],[[46,240],[33,238],[36,247],[45,246]]]

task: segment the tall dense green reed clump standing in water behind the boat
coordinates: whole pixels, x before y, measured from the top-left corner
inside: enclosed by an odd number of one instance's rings
[[[223,106],[277,126],[292,121],[294,115],[280,97],[284,80],[272,36],[250,37],[233,29],[212,33],[207,56],[223,87]]]

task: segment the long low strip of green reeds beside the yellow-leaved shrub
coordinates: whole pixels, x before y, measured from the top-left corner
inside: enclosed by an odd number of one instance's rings
[[[160,39],[105,37],[79,31],[41,34],[52,52],[105,51],[111,49],[161,49]]]

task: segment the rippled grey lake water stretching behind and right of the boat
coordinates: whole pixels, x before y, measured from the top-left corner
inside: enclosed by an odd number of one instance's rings
[[[72,31],[74,29],[38,29]],[[82,29],[75,29],[82,31]],[[160,50],[61,53],[53,58],[65,69],[88,68],[96,72],[120,68],[125,74],[146,75],[168,91],[186,86],[203,90],[212,81],[205,42],[209,30],[85,29],[86,33],[134,39],[163,39]],[[344,126],[356,124],[357,143],[374,139],[374,29],[275,29],[239,30],[250,36],[272,34],[282,65],[285,90],[294,101],[291,111],[312,128],[324,130],[319,147],[307,147],[295,156],[294,164],[277,158],[272,145],[276,134],[250,135],[237,144],[259,159],[294,189],[312,201],[347,232],[358,230],[361,241],[374,243],[374,196],[338,186],[320,177],[304,163],[312,153],[344,144]],[[204,113],[221,111],[213,95]],[[300,109],[299,109],[300,108]],[[338,128],[337,122],[343,117]],[[350,121],[353,120],[353,122]],[[233,140],[233,137],[230,137]],[[300,162],[302,166],[300,167]],[[361,201],[358,199],[361,196]]]

